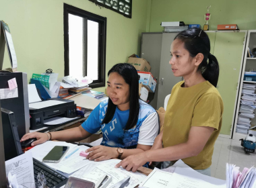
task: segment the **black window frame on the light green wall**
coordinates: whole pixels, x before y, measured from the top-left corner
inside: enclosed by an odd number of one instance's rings
[[[64,75],[69,75],[69,17],[68,14],[71,13],[73,15],[77,15],[80,17],[84,17],[87,20],[96,21],[99,23],[99,35],[98,35],[98,80],[93,81],[89,85],[89,87],[97,88],[97,87],[105,87],[106,81],[106,17],[102,17],[100,15],[96,15],[94,13],[90,13],[83,9],[79,9],[77,7],[73,7],[71,5],[67,5],[64,3],[64,62],[65,69]],[[86,75],[87,71],[87,24],[84,24],[84,48],[86,52],[84,52],[84,75]]]

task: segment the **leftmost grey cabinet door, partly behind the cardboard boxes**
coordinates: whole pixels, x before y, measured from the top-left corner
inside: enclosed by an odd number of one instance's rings
[[[151,73],[158,79],[160,71],[160,58],[162,48],[162,33],[142,33],[141,35],[141,58],[150,62]],[[152,99],[153,98],[153,99]],[[149,93],[148,99],[150,105],[156,109],[156,103],[158,98],[158,84],[156,85],[155,93]]]

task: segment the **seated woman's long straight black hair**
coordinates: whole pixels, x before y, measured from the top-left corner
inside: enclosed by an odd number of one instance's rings
[[[115,64],[109,71],[110,73],[118,73],[125,83],[129,84],[130,103],[129,103],[129,118],[125,126],[125,130],[129,130],[136,126],[139,117],[139,77],[134,66],[128,63]],[[115,105],[110,98],[108,98],[108,108],[102,124],[108,124],[114,117],[117,105]]]

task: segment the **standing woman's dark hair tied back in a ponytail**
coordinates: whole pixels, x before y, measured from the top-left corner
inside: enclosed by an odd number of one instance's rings
[[[205,80],[216,87],[220,72],[219,64],[216,57],[210,54],[211,46],[207,34],[200,29],[189,29],[180,32],[175,39],[184,42],[185,49],[189,51],[191,57],[199,53],[203,54],[203,61],[198,66],[198,70],[201,71]]]

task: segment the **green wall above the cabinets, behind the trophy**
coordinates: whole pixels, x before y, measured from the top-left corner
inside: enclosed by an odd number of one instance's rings
[[[256,29],[255,0],[152,0],[150,32],[162,32],[162,21],[184,21],[202,27],[206,7],[210,5],[210,30],[217,30],[218,24],[232,23],[240,30]]]

